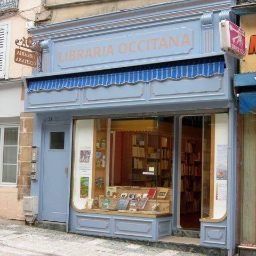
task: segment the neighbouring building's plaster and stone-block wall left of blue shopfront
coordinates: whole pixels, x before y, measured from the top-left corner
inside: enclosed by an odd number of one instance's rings
[[[0,118],[20,117],[19,157],[17,186],[0,186],[0,217],[23,218],[23,195],[30,195],[30,162],[31,145],[33,139],[33,114],[23,113],[23,84],[15,83],[12,79],[19,79],[31,74],[31,68],[14,62],[16,39],[29,36],[26,29],[27,21],[35,21],[35,14],[42,8],[41,0],[19,0],[19,10],[13,15],[2,15],[0,23],[10,23],[8,33],[10,42],[7,45],[9,51],[9,81],[0,82],[0,99],[2,111]],[[23,49],[26,50],[26,49]],[[29,50],[28,50],[29,51]],[[11,83],[10,83],[11,82]]]

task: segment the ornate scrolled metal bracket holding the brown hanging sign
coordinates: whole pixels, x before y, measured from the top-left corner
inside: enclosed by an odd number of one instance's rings
[[[19,47],[23,47],[23,48],[29,49],[31,51],[37,52],[38,60],[39,60],[38,68],[39,68],[39,72],[42,72],[43,71],[42,70],[43,49],[42,49],[40,43],[33,42],[33,38],[30,36],[28,38],[25,38],[23,36],[23,38],[20,40],[16,39],[15,44]]]

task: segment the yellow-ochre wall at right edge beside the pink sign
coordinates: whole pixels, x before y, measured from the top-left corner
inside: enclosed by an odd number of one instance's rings
[[[250,38],[256,35],[256,14],[241,16],[241,28],[245,30],[245,43],[248,49],[245,50],[245,58],[241,61],[241,73],[256,71],[256,54],[248,54]]]

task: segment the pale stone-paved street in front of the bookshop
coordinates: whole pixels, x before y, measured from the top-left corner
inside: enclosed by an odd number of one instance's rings
[[[0,256],[202,256],[110,239],[67,234],[0,219]]]

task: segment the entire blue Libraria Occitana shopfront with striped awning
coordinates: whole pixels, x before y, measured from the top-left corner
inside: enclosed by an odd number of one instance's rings
[[[229,1],[183,1],[30,30],[43,47],[43,73],[25,79],[38,220],[157,241],[193,228],[189,215],[202,246],[233,255],[235,61],[220,50],[223,19],[234,21]]]

